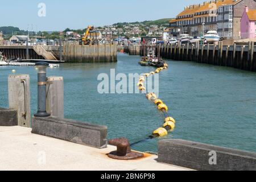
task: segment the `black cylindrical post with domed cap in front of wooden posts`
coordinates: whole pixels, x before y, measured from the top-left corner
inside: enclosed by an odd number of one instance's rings
[[[35,64],[38,69],[38,113],[34,117],[49,117],[51,114],[46,112],[46,68],[49,66],[46,62]]]

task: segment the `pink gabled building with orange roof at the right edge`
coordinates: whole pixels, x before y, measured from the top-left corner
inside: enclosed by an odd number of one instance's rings
[[[241,38],[256,38],[256,10],[249,10],[247,6],[241,19]]]

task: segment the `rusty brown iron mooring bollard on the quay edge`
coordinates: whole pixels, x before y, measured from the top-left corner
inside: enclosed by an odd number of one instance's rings
[[[117,146],[117,151],[110,152],[109,158],[118,160],[131,160],[143,158],[143,154],[131,151],[130,143],[126,138],[117,138],[109,140],[109,144]]]

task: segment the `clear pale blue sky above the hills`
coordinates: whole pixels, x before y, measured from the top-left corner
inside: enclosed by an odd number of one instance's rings
[[[85,28],[88,25],[105,26],[118,22],[174,18],[184,10],[185,6],[202,2],[201,0],[0,0],[0,27],[14,26],[30,31],[33,27],[34,31],[61,31],[65,28]]]

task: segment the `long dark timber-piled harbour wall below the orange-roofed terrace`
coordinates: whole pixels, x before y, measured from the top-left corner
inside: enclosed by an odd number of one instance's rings
[[[160,51],[160,56],[166,59],[195,61],[197,63],[256,71],[254,42],[249,42],[247,46],[237,46],[236,44],[223,46],[222,42],[219,42],[217,46],[209,44],[159,45],[156,47],[156,54],[158,51]]]

